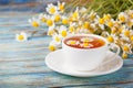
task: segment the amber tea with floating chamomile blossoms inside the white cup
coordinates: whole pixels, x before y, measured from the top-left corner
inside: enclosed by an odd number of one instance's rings
[[[103,40],[94,36],[72,36],[66,38],[64,43],[75,48],[96,48],[105,44]]]

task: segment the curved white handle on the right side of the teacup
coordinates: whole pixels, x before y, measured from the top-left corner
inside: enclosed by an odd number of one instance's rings
[[[110,57],[111,59],[109,59],[106,62],[103,62],[102,65],[104,65],[104,64],[106,64],[106,63],[109,63],[111,61],[114,61],[114,58],[120,54],[120,47],[116,44],[110,44],[109,45],[109,50],[113,50],[114,47],[116,48],[116,53]]]

